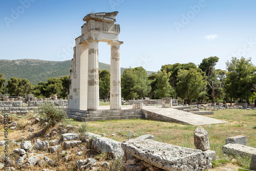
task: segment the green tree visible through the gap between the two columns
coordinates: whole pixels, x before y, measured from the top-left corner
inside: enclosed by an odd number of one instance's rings
[[[99,73],[99,98],[108,99],[110,92],[110,72],[102,70]]]

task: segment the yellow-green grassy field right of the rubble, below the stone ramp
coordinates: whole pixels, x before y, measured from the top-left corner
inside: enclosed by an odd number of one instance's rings
[[[249,169],[250,159],[235,156],[227,156],[222,152],[227,137],[245,135],[247,136],[248,146],[256,147],[256,111],[255,110],[236,110],[215,111],[215,115],[208,116],[215,119],[228,121],[225,124],[203,125],[208,132],[210,149],[216,152],[218,163],[229,164],[237,167]],[[68,123],[76,126],[85,125],[68,119]],[[154,135],[156,141],[166,142],[173,145],[195,148],[194,131],[197,126],[184,125],[179,123],[161,122],[153,120],[111,120],[87,122],[87,131],[95,134],[107,134],[106,137],[122,142],[127,140],[127,135],[131,130],[132,135]],[[116,135],[112,135],[116,134]],[[235,159],[232,161],[232,159]],[[216,170],[221,170],[219,164],[213,163]],[[214,170],[214,169],[213,169]],[[243,170],[243,169],[241,169]]]

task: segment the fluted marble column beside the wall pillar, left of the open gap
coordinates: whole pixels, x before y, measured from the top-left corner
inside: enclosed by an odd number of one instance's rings
[[[99,110],[99,58],[98,40],[89,39],[87,110]]]

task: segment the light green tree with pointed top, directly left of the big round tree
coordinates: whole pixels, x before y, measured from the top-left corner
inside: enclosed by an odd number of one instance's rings
[[[166,73],[165,70],[158,71],[158,74],[156,75],[156,78],[157,78],[156,94],[157,94],[157,97],[160,99],[162,97],[176,96],[175,90],[172,88],[172,86],[170,86],[169,77],[170,77],[170,72]]]

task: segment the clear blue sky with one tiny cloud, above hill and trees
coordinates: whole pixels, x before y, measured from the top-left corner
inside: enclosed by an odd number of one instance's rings
[[[255,65],[255,7],[254,0],[0,0],[0,59],[72,59],[83,17],[119,11],[121,67],[158,71],[210,56],[220,58],[216,69],[225,70],[232,56],[251,57]],[[110,63],[104,42],[99,61]]]

